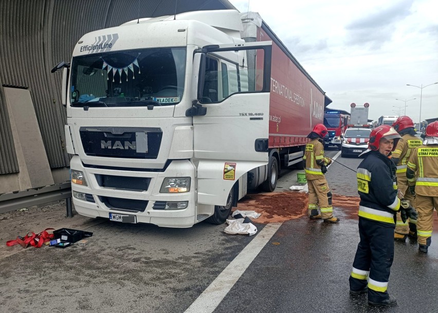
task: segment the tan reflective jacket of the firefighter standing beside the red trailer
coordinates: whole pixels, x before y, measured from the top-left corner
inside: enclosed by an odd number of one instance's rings
[[[303,160],[306,162],[304,171],[307,180],[325,178],[321,172],[321,165],[330,164],[331,159],[324,156],[324,145],[318,138],[314,138],[306,144]]]

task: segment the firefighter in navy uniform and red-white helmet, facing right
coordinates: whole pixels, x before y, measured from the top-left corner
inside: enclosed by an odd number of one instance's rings
[[[357,168],[359,236],[350,276],[350,294],[368,292],[368,303],[393,306],[397,300],[388,294],[390,268],[394,257],[395,213],[400,198],[396,167],[388,158],[400,135],[389,125],[371,132],[365,159]]]

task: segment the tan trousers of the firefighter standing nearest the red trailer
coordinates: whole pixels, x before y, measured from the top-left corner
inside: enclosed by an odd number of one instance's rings
[[[307,180],[309,189],[308,215],[321,210],[323,219],[333,217],[332,193],[325,178]],[[316,210],[316,211],[313,211]]]

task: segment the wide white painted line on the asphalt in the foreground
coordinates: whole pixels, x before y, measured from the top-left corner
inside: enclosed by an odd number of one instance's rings
[[[184,313],[213,312],[282,224],[267,224]]]

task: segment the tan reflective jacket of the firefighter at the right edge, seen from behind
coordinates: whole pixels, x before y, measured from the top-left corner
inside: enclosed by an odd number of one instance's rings
[[[438,144],[422,144],[413,151],[406,172],[409,185],[422,196],[438,196]]]

